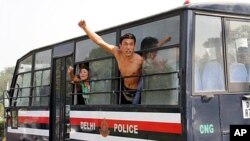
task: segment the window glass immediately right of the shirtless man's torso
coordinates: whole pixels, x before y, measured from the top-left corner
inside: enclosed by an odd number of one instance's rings
[[[155,59],[145,59],[143,64],[143,89],[141,103],[148,105],[178,104],[179,48],[168,48],[148,53]]]

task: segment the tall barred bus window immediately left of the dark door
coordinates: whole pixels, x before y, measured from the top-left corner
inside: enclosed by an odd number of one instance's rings
[[[35,54],[32,106],[48,106],[50,94],[51,50]]]

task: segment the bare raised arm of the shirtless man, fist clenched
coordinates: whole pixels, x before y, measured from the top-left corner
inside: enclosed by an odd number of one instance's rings
[[[116,46],[106,43],[99,35],[91,31],[84,20],[81,20],[78,25],[85,31],[85,33],[93,42],[95,42],[98,46],[105,49],[106,51],[114,54],[114,49],[116,48]]]

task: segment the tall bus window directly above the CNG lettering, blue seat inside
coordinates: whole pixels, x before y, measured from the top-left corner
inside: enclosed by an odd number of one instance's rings
[[[196,92],[224,91],[221,18],[196,15],[194,88]]]

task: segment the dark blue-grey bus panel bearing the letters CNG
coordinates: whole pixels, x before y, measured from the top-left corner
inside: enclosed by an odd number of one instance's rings
[[[205,101],[197,96],[192,105],[194,141],[221,141],[218,97]]]

